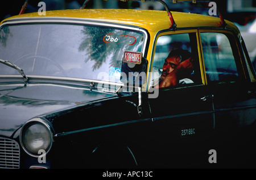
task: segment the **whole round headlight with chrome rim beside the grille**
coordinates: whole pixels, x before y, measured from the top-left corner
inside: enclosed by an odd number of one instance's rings
[[[52,131],[50,125],[43,119],[33,119],[27,122],[21,131],[22,148],[31,156],[40,156],[40,149],[49,151],[52,146]]]

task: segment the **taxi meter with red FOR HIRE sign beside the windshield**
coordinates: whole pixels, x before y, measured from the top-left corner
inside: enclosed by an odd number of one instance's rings
[[[125,51],[120,81],[127,86],[141,87],[146,83],[147,64],[148,61],[142,57],[141,52]]]

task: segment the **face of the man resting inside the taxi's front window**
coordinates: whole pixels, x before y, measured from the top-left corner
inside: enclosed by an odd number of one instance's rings
[[[164,61],[161,78],[164,79],[180,64],[180,56],[167,57]]]

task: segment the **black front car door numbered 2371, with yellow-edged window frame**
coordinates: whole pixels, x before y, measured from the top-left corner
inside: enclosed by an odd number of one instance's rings
[[[155,87],[162,77],[163,64],[171,51],[183,49],[194,59],[193,71],[185,77],[192,81],[179,81],[174,87],[159,88],[158,97],[148,99],[152,116],[151,142],[167,164],[196,163],[200,156],[203,156],[202,161],[208,162],[205,154],[210,150],[215,122],[212,96],[201,75],[198,42],[197,30],[163,32],[156,38],[154,61],[150,64],[151,87]]]

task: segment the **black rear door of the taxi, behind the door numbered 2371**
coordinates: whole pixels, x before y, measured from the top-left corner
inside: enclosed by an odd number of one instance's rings
[[[219,160],[230,164],[244,159],[245,142],[256,119],[256,99],[246,76],[238,39],[224,30],[200,30],[203,60],[210,94],[214,96],[216,150]],[[245,130],[245,131],[243,131]],[[242,136],[241,136],[242,135]],[[222,146],[223,145],[223,146]],[[234,158],[236,157],[236,158]]]

